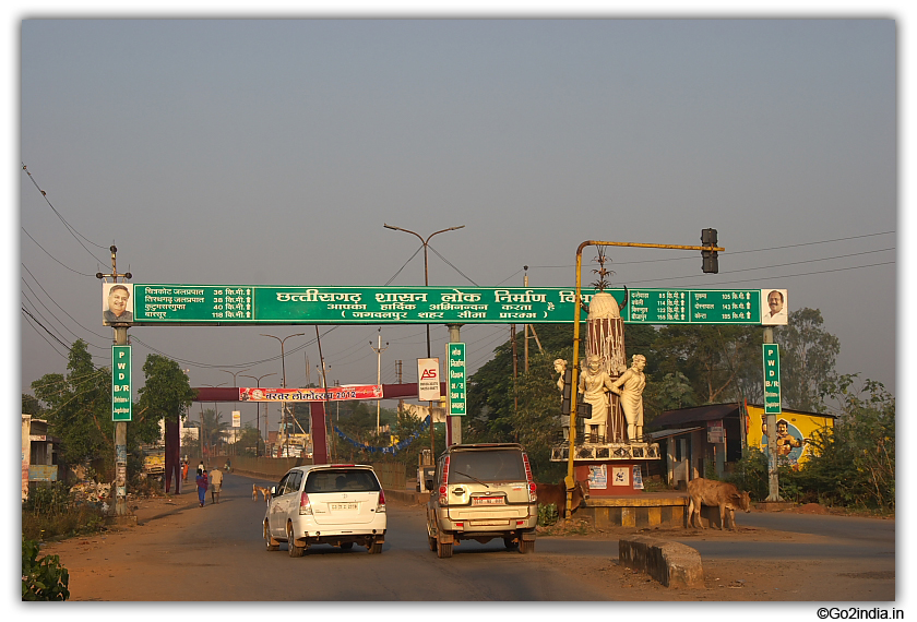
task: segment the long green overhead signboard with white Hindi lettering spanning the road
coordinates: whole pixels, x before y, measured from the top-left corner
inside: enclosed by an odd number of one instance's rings
[[[623,289],[608,289],[623,301]],[[594,289],[582,291],[588,303]],[[133,324],[546,324],[573,321],[572,287],[133,285]],[[760,324],[760,289],[630,289],[630,324]],[[585,313],[582,314],[585,319]]]

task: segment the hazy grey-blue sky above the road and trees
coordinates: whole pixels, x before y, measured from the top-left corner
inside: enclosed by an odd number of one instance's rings
[[[418,241],[383,223],[464,225],[433,238],[431,284],[522,285],[528,265],[532,285],[569,286],[584,240],[696,244],[714,227],[718,275],[694,252],[612,249],[612,283],[786,288],[839,337],[838,371],[894,390],[897,34],[888,19],[27,19],[15,285],[102,366],[111,243],[135,283],[413,285]],[[267,328],[135,327],[135,367],[157,351],[193,385],[279,375],[259,334],[305,332],[288,383],[307,358],[315,382],[314,328]],[[377,328],[323,338],[330,381],[374,382]],[[28,391],[66,350],[19,330]],[[414,381],[424,328],[381,334],[383,382],[395,360]],[[474,371],[508,328],[462,337]]]

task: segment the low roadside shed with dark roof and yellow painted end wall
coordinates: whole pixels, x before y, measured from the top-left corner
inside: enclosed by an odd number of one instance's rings
[[[758,447],[766,454],[763,416],[763,406],[735,402],[666,410],[647,426],[650,442],[659,443],[659,452],[665,456],[656,467],[659,473],[651,470],[650,475],[683,487],[704,476],[705,463],[722,477],[735,468],[745,447]],[[811,455],[808,441],[812,433],[833,426],[833,415],[785,409],[777,416],[781,459],[799,468]]]

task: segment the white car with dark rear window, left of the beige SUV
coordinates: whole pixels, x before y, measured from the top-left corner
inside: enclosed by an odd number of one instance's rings
[[[319,543],[350,549],[356,542],[381,553],[385,528],[385,494],[368,465],[290,469],[271,487],[263,525],[267,550],[286,542],[291,558]]]

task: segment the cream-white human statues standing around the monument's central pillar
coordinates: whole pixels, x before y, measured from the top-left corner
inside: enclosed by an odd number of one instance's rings
[[[608,418],[611,400],[609,393],[619,396],[621,410],[627,420],[627,440],[631,443],[643,441],[643,390],[646,387],[646,376],[643,369],[646,367],[646,357],[634,355],[631,367],[620,376],[612,379],[605,371],[604,359],[600,356],[592,355],[580,363],[579,393],[583,396],[584,403],[592,406],[592,417],[584,419],[586,434],[594,434],[599,439],[606,438]],[[623,367],[623,366],[621,366]],[[560,372],[557,386],[563,390],[563,374],[567,370],[567,361],[557,359],[555,370]],[[615,414],[611,412],[611,416]],[[569,439],[570,417],[562,416],[563,438]]]

